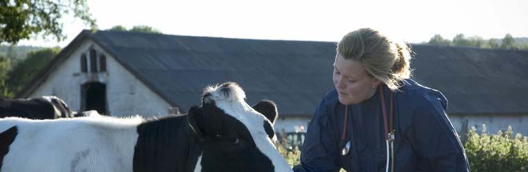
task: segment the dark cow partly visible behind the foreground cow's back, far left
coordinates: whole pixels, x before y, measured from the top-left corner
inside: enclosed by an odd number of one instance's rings
[[[58,119],[74,117],[66,103],[56,96],[39,98],[0,98],[0,118]]]

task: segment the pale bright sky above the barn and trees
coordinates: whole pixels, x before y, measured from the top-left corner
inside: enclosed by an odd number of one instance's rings
[[[88,0],[88,6],[101,30],[146,25],[169,35],[338,42],[369,27],[409,43],[435,34],[528,37],[527,0]],[[64,47],[89,28],[71,15],[63,23],[63,42],[33,38],[19,45]]]

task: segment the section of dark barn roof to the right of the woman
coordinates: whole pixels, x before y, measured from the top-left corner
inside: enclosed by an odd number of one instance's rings
[[[414,79],[455,114],[528,114],[528,51],[414,45]]]

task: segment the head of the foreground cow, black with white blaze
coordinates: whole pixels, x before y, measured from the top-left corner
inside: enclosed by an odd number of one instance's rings
[[[236,83],[207,87],[188,117],[204,146],[195,171],[291,171],[273,144],[277,107],[251,107]]]

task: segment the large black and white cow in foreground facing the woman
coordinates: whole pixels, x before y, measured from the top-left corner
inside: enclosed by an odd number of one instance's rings
[[[236,83],[204,89],[187,115],[0,119],[0,171],[292,171],[274,146],[270,101]]]

